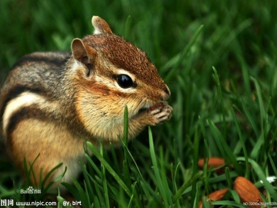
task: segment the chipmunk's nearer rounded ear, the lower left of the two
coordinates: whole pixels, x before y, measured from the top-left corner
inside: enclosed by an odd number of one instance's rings
[[[72,41],[71,50],[74,59],[77,61],[86,66],[94,64],[97,52],[90,46],[87,46],[81,39],[75,38]]]

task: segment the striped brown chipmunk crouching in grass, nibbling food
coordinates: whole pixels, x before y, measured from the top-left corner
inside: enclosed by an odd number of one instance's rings
[[[33,164],[33,183],[60,163],[48,182],[67,171],[70,183],[84,159],[83,138],[99,146],[119,144],[124,108],[129,138],[171,118],[168,86],[145,52],[113,34],[93,16],[94,34],[71,43],[71,53],[35,52],[22,57],[1,89],[1,130],[6,149],[23,172]],[[57,184],[55,184],[57,186]],[[55,186],[54,185],[54,186]]]

